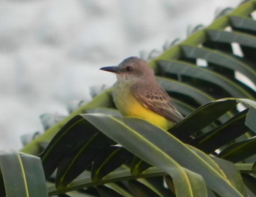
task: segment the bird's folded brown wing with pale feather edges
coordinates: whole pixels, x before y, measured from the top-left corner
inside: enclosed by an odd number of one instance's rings
[[[165,117],[167,120],[178,123],[183,116],[171,103],[169,95],[160,86],[148,87],[142,84],[132,86],[132,93],[146,108]]]

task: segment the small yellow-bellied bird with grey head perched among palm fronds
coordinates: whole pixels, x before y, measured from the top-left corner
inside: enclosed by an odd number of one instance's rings
[[[118,66],[106,66],[100,70],[116,74],[112,96],[124,117],[138,117],[164,130],[183,119],[145,60],[128,57]]]

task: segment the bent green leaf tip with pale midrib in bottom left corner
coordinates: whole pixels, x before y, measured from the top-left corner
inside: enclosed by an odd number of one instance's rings
[[[8,197],[47,197],[41,160],[15,150],[0,151],[0,169]]]

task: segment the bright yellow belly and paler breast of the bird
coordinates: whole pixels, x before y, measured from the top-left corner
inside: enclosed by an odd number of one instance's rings
[[[116,107],[123,116],[139,117],[165,130],[174,126],[174,123],[163,116],[145,108],[131,92],[121,91],[113,96]]]

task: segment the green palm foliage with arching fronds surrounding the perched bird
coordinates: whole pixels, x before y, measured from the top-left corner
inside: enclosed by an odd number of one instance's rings
[[[23,153],[2,152],[2,196],[255,196],[255,9],[248,0],[149,61],[186,116],[175,127],[120,116],[107,90]]]

